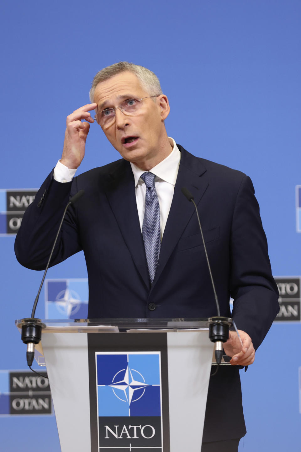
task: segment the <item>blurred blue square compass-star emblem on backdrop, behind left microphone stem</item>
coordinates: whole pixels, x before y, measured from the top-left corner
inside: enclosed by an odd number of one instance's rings
[[[46,279],[45,319],[86,319],[88,278]]]

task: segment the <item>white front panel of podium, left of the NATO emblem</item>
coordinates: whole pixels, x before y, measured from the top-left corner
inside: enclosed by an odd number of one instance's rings
[[[42,335],[62,452],[91,450],[87,336]]]

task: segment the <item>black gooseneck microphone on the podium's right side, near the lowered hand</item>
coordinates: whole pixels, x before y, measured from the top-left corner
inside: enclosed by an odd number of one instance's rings
[[[187,198],[188,201],[193,203],[194,208],[195,208],[195,212],[196,212],[196,215],[197,215],[197,218],[198,218],[198,221],[199,221],[199,230],[200,230],[201,236],[202,236],[202,241],[203,241],[203,245],[204,245],[204,251],[205,251],[206,260],[207,260],[207,267],[208,267],[209,274],[210,274],[211,285],[212,285],[212,288],[213,288],[213,293],[214,293],[214,298],[215,298],[215,303],[216,303],[216,310],[217,310],[217,313],[218,313],[217,317],[211,317],[211,319],[210,319],[209,338],[210,338],[211,342],[215,343],[214,355],[215,355],[216,362],[219,365],[221,363],[221,361],[222,361],[222,355],[223,355],[222,344],[224,342],[226,342],[228,340],[228,338],[229,338],[229,326],[231,324],[228,321],[227,317],[221,317],[221,315],[220,315],[218,296],[217,296],[217,293],[216,293],[216,290],[215,290],[215,285],[214,285],[213,276],[212,276],[212,272],[211,272],[211,267],[210,267],[210,263],[209,263],[207,248],[206,248],[204,235],[203,235],[203,231],[202,231],[202,226],[201,226],[201,222],[199,220],[199,212],[198,212],[197,205],[194,202],[194,197],[190,193],[188,188],[186,188],[186,187],[182,187],[181,191],[182,191],[183,195],[185,196],[185,198]]]

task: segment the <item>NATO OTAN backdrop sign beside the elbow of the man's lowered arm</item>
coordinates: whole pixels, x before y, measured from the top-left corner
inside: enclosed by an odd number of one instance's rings
[[[276,276],[280,311],[275,321],[300,321],[300,277]]]

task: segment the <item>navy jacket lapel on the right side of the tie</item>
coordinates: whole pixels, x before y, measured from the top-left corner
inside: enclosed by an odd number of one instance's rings
[[[189,152],[185,151],[185,149],[181,146],[177,146],[181,151],[181,163],[176,179],[175,191],[171,202],[167,224],[162,238],[159,262],[155,278],[153,280],[152,289],[157,280],[160,278],[160,275],[167,264],[172,251],[179,241],[188,221],[190,220],[190,217],[194,213],[193,204],[185,198],[181,192],[181,188],[188,188],[194,196],[194,202],[198,204],[205,193],[206,188],[208,187],[208,181],[204,180],[204,178],[202,179],[201,177],[201,175],[206,171],[204,165],[197,157],[194,157],[194,155],[191,155]]]

